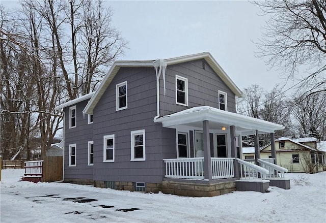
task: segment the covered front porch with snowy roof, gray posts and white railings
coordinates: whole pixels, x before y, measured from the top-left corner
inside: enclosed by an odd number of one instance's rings
[[[274,146],[274,131],[284,129],[280,124],[209,106],[190,108],[154,121],[176,130],[177,157],[164,160],[166,180],[218,182],[284,177],[286,169],[276,165]],[[258,135],[266,133],[273,145],[271,158],[260,160]],[[254,162],[240,159],[244,135],[255,136]]]

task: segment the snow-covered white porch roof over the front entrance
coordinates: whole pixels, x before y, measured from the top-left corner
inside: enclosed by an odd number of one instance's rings
[[[283,130],[284,126],[257,118],[252,118],[233,112],[223,111],[210,106],[189,108],[170,115],[154,119],[154,122],[161,122],[163,127],[175,129],[178,125],[193,126],[202,128],[202,121],[209,121],[209,128],[221,130],[222,126],[227,129],[229,126],[236,126],[236,131],[242,135],[254,135],[258,130],[259,134],[274,133]]]

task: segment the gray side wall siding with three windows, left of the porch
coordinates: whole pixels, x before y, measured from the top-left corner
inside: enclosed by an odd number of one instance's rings
[[[127,109],[116,111],[116,84],[127,81]],[[120,68],[94,109],[94,180],[161,183],[164,158],[176,157],[175,130],[154,123],[153,68]],[[130,161],[130,132],[145,130],[146,161]],[[103,136],[115,135],[115,161],[103,162]],[[172,140],[171,140],[172,139]]]

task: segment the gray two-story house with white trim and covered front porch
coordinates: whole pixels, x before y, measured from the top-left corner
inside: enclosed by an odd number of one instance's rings
[[[115,61],[95,92],[56,108],[64,112],[64,181],[228,193],[243,172],[241,136],[270,133],[274,140],[283,129],[236,114],[241,95],[210,53]]]

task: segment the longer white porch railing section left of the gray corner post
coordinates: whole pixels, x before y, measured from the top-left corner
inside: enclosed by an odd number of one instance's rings
[[[204,179],[203,157],[165,159],[165,177],[181,179]]]

